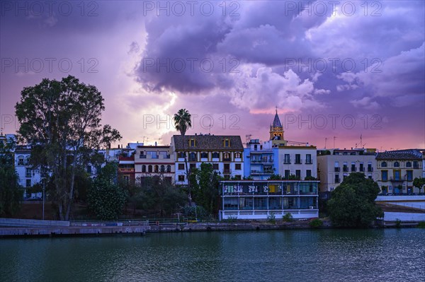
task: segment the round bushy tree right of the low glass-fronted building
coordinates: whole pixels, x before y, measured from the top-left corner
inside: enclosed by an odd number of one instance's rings
[[[378,184],[366,179],[362,172],[344,177],[327,203],[332,223],[343,227],[367,227],[383,216],[382,210],[375,205],[379,192]]]

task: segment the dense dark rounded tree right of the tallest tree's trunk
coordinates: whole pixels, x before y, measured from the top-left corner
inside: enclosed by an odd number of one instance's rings
[[[117,219],[123,213],[127,194],[117,184],[117,163],[107,163],[87,193],[89,209],[101,220]]]

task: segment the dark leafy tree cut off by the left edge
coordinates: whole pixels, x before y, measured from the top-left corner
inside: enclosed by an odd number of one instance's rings
[[[23,190],[13,166],[13,143],[0,141],[0,216],[13,216],[19,211]]]

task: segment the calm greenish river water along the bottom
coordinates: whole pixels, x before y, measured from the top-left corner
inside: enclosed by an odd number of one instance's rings
[[[0,240],[1,281],[424,281],[425,229]]]

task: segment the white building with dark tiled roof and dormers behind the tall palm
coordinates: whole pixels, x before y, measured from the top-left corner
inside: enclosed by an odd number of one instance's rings
[[[226,180],[242,179],[244,173],[244,147],[240,136],[215,136],[210,134],[171,137],[171,148],[176,153],[176,184],[188,184],[188,170],[200,168],[201,163],[211,163],[212,168]]]

